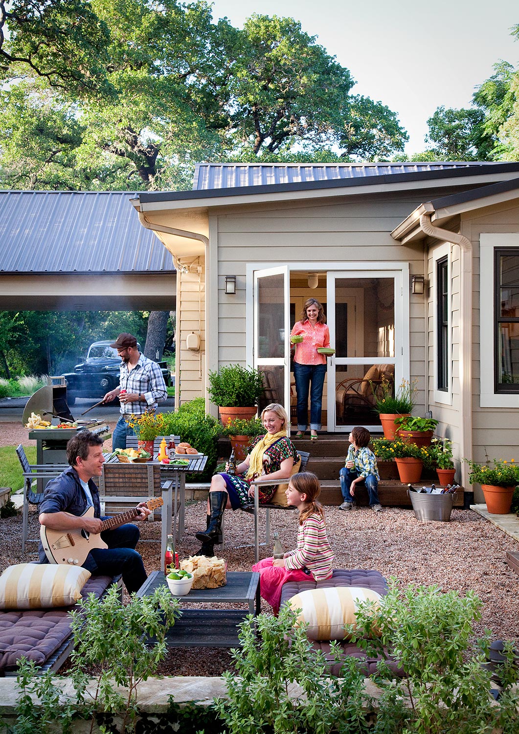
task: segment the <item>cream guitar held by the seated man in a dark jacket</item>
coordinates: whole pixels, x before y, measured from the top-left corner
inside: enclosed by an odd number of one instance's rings
[[[164,500],[157,497],[148,500],[146,506],[153,512],[154,509],[163,504]],[[139,509],[134,507],[128,512],[121,512],[120,515],[109,517],[107,520],[103,520],[101,530],[98,533],[89,533],[87,530],[80,528],[67,531],[52,530],[42,525],[40,527],[40,538],[48,562],[82,566],[92,548],[108,548],[108,545],[101,539],[101,533],[104,530],[117,528],[128,522],[128,520],[133,520],[137,515],[139,515]],[[81,517],[94,517],[94,508],[87,507]]]

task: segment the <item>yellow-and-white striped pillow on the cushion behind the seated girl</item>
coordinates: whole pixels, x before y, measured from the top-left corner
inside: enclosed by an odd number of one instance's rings
[[[330,586],[308,589],[288,600],[293,611],[300,609],[297,623],[308,623],[306,633],[311,640],[342,640],[348,635],[344,625],[355,625],[361,602],[380,604],[382,597],[371,589],[357,586]]]

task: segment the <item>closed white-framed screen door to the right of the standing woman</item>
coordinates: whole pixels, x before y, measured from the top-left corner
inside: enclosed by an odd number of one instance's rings
[[[328,431],[380,430],[373,410],[382,380],[402,379],[401,273],[328,272]],[[399,355],[398,358],[396,355]]]

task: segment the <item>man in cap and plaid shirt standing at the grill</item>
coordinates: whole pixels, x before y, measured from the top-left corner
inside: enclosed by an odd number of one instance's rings
[[[159,401],[167,398],[167,388],[161,368],[137,349],[137,339],[131,334],[120,334],[114,344],[121,358],[119,387],[110,390],[103,398],[105,403],[115,398],[120,401],[121,417],[112,434],[112,451],[126,448],[126,436],[134,435],[128,425],[131,415],[142,415],[156,408]]]

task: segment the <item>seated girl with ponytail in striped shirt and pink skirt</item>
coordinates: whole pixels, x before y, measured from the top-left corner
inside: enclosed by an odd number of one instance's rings
[[[324,581],[332,575],[333,551],[324,526],[322,504],[317,501],[321,492],[319,479],[311,472],[291,476],[286,490],[288,506],[299,510],[297,548],[283,558],[266,558],[253,566],[261,575],[261,596],[277,615],[280,608],[281,587],[287,581]]]

